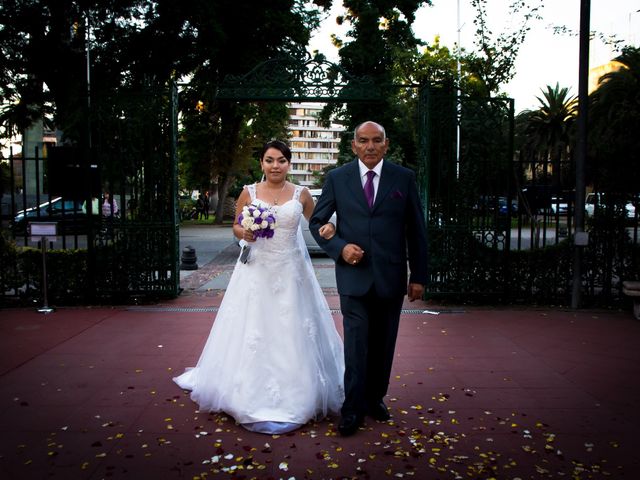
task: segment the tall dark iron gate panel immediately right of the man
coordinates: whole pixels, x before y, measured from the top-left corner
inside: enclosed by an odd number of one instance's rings
[[[430,297],[509,295],[516,190],[513,101],[420,90]]]

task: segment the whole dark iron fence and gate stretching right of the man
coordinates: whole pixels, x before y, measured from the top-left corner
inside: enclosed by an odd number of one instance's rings
[[[569,305],[573,281],[571,158],[515,154],[510,99],[420,91],[419,179],[429,230],[427,296],[456,302]],[[587,219],[584,306],[625,306],[640,278],[638,195],[609,193]]]

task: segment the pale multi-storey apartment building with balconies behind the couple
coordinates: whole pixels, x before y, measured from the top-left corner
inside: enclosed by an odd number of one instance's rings
[[[313,186],[313,172],[338,161],[338,147],[344,132],[341,125],[329,128],[320,125],[320,103],[289,104],[289,145],[291,146],[292,180],[300,185]]]

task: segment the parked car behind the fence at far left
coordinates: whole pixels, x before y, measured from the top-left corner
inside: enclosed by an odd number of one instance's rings
[[[10,228],[14,235],[24,235],[29,233],[28,224],[37,221],[58,222],[59,235],[86,234],[88,231],[87,211],[81,200],[56,197],[50,202],[20,210],[13,218]]]

